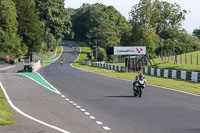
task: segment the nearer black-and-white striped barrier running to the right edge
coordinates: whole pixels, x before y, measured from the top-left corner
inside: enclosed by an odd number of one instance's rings
[[[200,72],[183,71],[183,70],[168,70],[144,67],[144,73],[157,77],[183,79],[192,82],[200,82]]]

